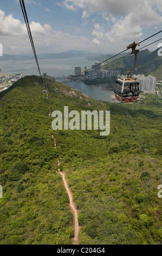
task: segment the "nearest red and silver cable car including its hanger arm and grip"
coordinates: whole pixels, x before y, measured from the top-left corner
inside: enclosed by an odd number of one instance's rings
[[[139,50],[135,50],[136,46],[137,42],[132,42],[132,44],[127,46],[127,49],[132,48],[131,54],[135,54],[135,63],[133,69],[131,69],[127,73],[127,77],[118,77],[118,79],[115,81],[115,98],[116,100],[119,100],[121,103],[137,101],[138,96],[140,94],[139,82],[137,81],[137,78],[131,77],[132,70],[136,69],[137,53],[139,52]]]

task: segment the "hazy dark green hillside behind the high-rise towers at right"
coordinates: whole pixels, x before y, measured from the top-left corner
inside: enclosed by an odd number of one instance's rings
[[[134,70],[133,74],[144,74],[145,76],[152,75],[155,76],[158,80],[162,79],[162,57],[158,56],[158,50],[153,52],[146,50],[141,50],[138,53],[138,60],[137,60],[137,71]],[[126,54],[122,54],[125,56]],[[116,58],[119,58],[116,57]],[[112,60],[109,60],[111,62]],[[108,70],[121,70],[121,74],[127,74],[129,70],[131,70],[134,66],[134,54],[124,57],[120,60],[116,60],[111,64],[104,66],[104,69]]]

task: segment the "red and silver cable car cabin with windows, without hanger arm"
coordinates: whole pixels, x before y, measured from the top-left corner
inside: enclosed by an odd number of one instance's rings
[[[137,101],[140,94],[139,83],[136,78],[118,78],[115,81],[114,93],[116,100],[122,103]]]

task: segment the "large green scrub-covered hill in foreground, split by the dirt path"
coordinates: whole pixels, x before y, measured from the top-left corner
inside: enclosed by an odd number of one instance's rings
[[[0,244],[72,244],[73,215],[56,150],[79,210],[80,244],[160,244],[161,100],[101,103],[37,76],[0,94]],[[59,93],[55,92],[59,88]],[[49,111],[111,111],[111,132],[52,130]]]

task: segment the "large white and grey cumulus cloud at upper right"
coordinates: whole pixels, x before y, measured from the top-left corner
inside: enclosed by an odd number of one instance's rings
[[[112,22],[104,33],[103,28],[94,27],[92,35],[95,39],[107,39],[110,42],[125,39],[138,39],[142,35],[142,29],[149,27],[161,27],[162,2],[161,0],[63,0],[60,2],[65,8],[83,10],[82,19],[88,19],[92,13],[102,15],[103,20]]]

